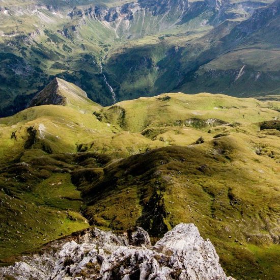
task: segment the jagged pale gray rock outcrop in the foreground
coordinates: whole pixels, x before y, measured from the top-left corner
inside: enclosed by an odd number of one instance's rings
[[[219,265],[212,243],[193,224],[176,226],[151,246],[141,228],[123,235],[89,229],[48,244],[0,275],[15,279],[233,279]]]

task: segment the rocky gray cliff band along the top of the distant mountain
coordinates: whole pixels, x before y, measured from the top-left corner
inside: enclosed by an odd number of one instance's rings
[[[106,8],[104,6],[75,7],[68,16],[74,19],[91,19],[104,22],[106,26],[115,29],[119,36],[135,35],[130,34],[130,27],[137,32],[151,32],[165,30],[176,24],[183,24],[195,17],[203,16],[200,24],[218,25],[226,19],[236,19],[249,16],[256,8],[263,6],[263,3],[244,2],[234,4],[228,0],[206,0],[190,2],[188,0],[138,0],[126,3],[121,6]],[[232,12],[232,11],[240,12]],[[243,12],[241,12],[243,11]],[[205,19],[205,15],[208,19]],[[145,21],[153,22],[153,26],[146,26]],[[142,23],[141,23],[142,22]],[[154,30],[154,31],[155,31]],[[143,35],[143,34],[142,34]],[[131,37],[129,37],[131,38]]]

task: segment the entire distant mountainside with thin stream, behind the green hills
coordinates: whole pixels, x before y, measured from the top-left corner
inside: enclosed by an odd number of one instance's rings
[[[278,94],[278,7],[9,0],[0,7],[0,115],[26,107],[54,76],[103,105],[178,90]]]

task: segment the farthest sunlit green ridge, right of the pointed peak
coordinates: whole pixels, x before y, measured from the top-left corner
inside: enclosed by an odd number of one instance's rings
[[[164,100],[169,96],[170,99]],[[277,105],[275,105],[277,106]],[[226,95],[163,94],[151,98],[123,101],[105,107],[98,113],[103,121],[112,121],[132,132],[140,132],[151,127],[185,125],[185,120],[198,118],[218,120],[248,125],[262,120],[278,118],[279,112],[271,105],[255,99],[241,99]],[[123,110],[122,116],[120,111]]]

